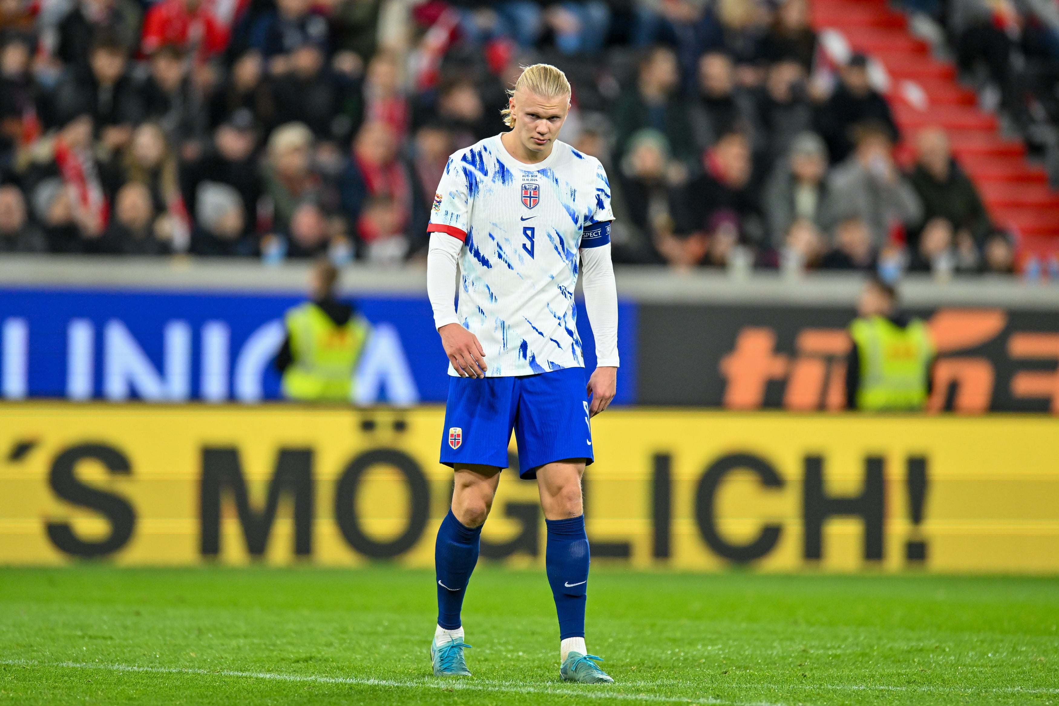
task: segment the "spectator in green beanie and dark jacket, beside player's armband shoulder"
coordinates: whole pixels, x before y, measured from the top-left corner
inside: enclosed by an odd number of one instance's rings
[[[658,130],[644,128],[632,135],[629,152],[622,161],[618,179],[611,178],[611,188],[618,182],[625,194],[629,221],[636,229],[634,240],[623,247],[623,254],[633,261],[657,259],[653,243],[665,243],[670,261],[681,264],[689,258],[683,254],[684,242],[672,242],[677,235],[679,189],[686,180],[687,169],[669,155],[669,144]],[[611,201],[613,202],[613,191]],[[682,234],[684,235],[684,234]],[[616,249],[615,249],[616,250]],[[694,263],[688,261],[688,265]]]

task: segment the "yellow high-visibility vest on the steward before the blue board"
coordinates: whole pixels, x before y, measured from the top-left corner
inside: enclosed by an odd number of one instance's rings
[[[283,374],[283,393],[290,399],[311,402],[347,402],[353,394],[353,373],[371,331],[360,316],[336,326],[311,302],[287,311],[293,362]]]

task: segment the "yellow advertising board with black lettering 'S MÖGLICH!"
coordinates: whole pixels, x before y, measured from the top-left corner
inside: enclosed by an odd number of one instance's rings
[[[444,411],[0,405],[0,564],[433,563]],[[611,410],[585,478],[596,560],[636,567],[1059,572],[1059,418]],[[515,453],[514,445],[511,453]],[[505,471],[482,556],[542,564]]]

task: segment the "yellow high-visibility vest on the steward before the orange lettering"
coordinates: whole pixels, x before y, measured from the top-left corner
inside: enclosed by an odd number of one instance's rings
[[[857,408],[868,412],[910,412],[927,404],[934,343],[919,319],[900,327],[883,316],[857,319],[849,334],[860,354]]]

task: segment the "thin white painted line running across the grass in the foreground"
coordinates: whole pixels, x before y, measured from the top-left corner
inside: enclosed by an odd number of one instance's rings
[[[473,683],[462,681],[446,682],[397,682],[391,680],[357,678],[352,676],[316,676],[302,674],[275,674],[272,672],[241,672],[228,669],[209,670],[183,667],[140,667],[137,665],[93,665],[90,663],[57,662],[43,663],[29,659],[0,659],[0,665],[12,667],[60,667],[65,669],[100,669],[113,672],[146,672],[151,674],[197,674],[204,676],[229,676],[237,678],[268,680],[272,682],[299,682],[311,684],[348,684],[353,686],[381,686],[401,689],[445,689],[465,691],[503,691],[506,693],[541,693],[550,695],[569,695],[576,699],[602,699],[614,701],[633,701],[664,704],[708,704],[713,706],[785,706],[779,703],[754,701],[725,701],[723,699],[685,699],[683,696],[662,696],[649,693],[606,693],[604,691],[588,691],[577,687],[562,689],[550,687],[517,686],[509,682]],[[608,687],[603,687],[604,689]]]

